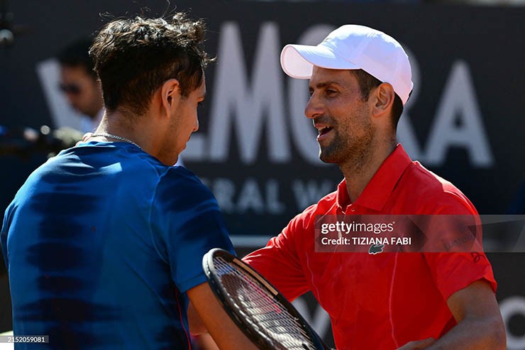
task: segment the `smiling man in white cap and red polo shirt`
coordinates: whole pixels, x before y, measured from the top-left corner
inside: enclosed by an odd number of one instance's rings
[[[319,131],[319,157],[338,164],[344,180],[244,260],[289,300],[311,290],[330,315],[339,350],[505,349],[484,253],[316,251],[321,215],[479,220],[460,190],[413,162],[396,141],[413,87],[401,45],[372,28],[347,25],[317,46],[285,46],[281,64],[287,75],[309,79],[305,114]]]

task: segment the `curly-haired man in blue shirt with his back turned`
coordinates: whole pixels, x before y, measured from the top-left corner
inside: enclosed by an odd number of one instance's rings
[[[221,349],[251,348],[201,268],[210,248],[233,251],[216,199],[172,166],[199,128],[203,40],[183,13],[96,36],[101,124],[35,170],[4,217],[14,334],[49,341],[19,349],[189,349],[192,319]]]

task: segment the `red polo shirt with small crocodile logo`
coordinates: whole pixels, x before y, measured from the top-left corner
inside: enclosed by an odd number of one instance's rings
[[[450,182],[412,162],[399,144],[355,202],[343,180],[243,259],[289,300],[311,290],[330,315],[339,350],[397,349],[412,340],[438,339],[456,324],[448,297],[480,279],[496,290],[484,254],[315,252],[314,218],[324,214],[477,211]]]

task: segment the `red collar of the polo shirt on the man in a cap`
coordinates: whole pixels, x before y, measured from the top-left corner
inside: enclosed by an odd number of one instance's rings
[[[397,181],[403,175],[404,170],[412,163],[401,143],[398,143],[394,151],[385,159],[377,172],[368,182],[363,193],[355,200],[355,205],[381,210],[388,197],[394,190]],[[350,197],[346,190],[346,180],[341,181],[337,187],[337,204],[342,209],[350,204]]]

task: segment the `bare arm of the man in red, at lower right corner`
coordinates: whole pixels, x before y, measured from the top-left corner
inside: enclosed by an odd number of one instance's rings
[[[448,298],[447,305],[458,322],[453,329],[433,344],[411,341],[399,350],[507,349],[502,315],[488,283],[477,280],[458,290]]]

